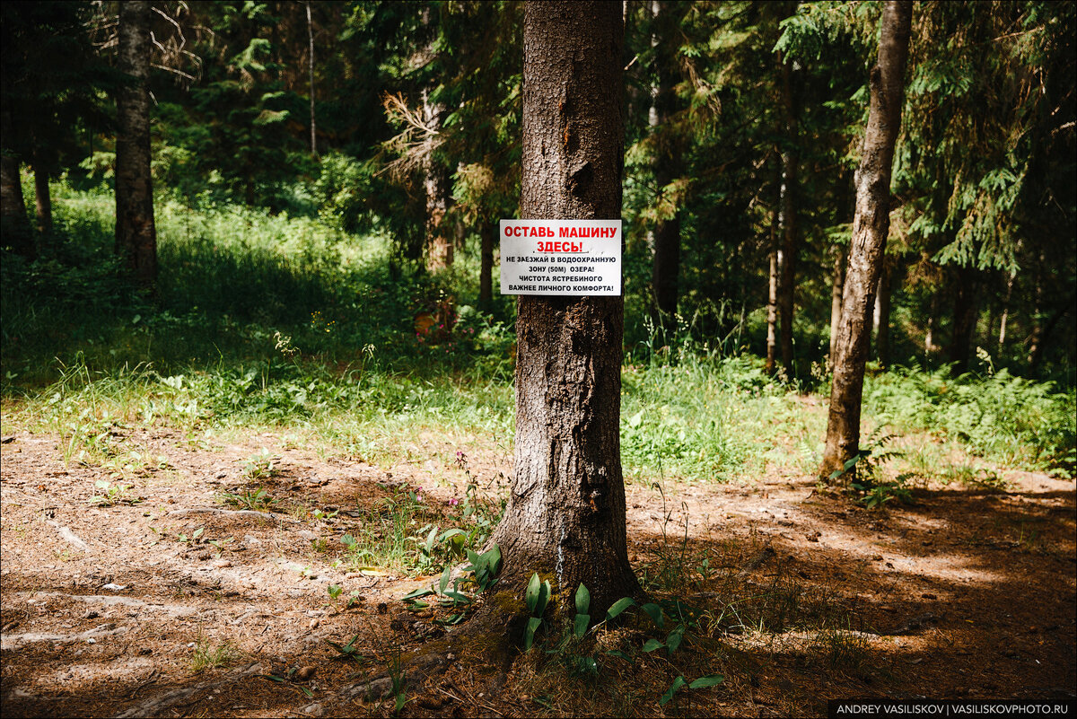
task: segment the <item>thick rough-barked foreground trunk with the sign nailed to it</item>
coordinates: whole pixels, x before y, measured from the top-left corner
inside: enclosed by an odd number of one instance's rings
[[[619,218],[621,8],[529,2],[520,216]],[[532,572],[591,616],[638,590],[620,467],[621,297],[520,296],[516,475],[494,535],[508,581]]]

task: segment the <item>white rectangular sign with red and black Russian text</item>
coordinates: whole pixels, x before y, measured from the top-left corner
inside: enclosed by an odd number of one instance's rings
[[[620,220],[502,220],[501,294],[620,295]]]

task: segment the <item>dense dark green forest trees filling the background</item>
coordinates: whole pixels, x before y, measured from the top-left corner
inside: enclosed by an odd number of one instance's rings
[[[111,181],[114,4],[3,13],[5,164]],[[964,368],[981,347],[1073,380],[1074,13],[917,6],[880,358]],[[624,18],[628,337],[764,353],[774,255],[783,371],[823,377],[880,6],[630,1]],[[158,3],[155,192],[386,232],[401,268],[436,273],[454,249],[490,302],[521,27],[509,1]]]

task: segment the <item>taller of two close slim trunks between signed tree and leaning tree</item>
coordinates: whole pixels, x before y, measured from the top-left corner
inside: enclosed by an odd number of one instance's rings
[[[796,151],[797,109],[793,98],[792,61],[782,61],[781,65],[782,111],[788,146],[782,153],[782,278],[778,291],[778,314],[781,320],[782,366],[792,379],[796,376],[793,366],[793,306],[796,296],[797,254],[800,252],[796,198],[799,157]]]

